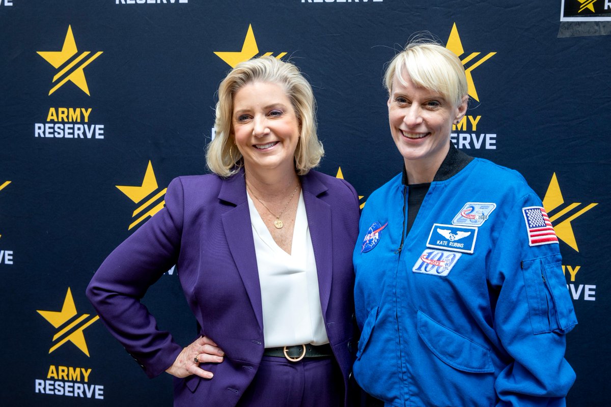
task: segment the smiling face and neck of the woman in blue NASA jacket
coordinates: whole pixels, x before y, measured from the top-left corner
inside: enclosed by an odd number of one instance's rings
[[[390,133],[405,161],[410,183],[431,182],[450,147],[452,123],[467,111],[467,96],[456,107],[441,93],[416,87],[395,74],[388,99]]]

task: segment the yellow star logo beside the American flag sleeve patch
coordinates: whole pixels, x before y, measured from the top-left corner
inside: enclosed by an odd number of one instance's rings
[[[579,207],[582,203],[576,202],[561,208],[564,203],[565,200],[562,197],[562,192],[560,192],[560,184],[558,184],[556,173],[554,173],[554,175],[552,175],[552,180],[549,182],[549,186],[547,187],[545,198],[543,198],[543,207],[545,208],[547,215],[549,215],[550,222],[552,222],[552,225],[554,226],[556,236],[558,236],[560,240],[565,242],[575,251],[579,251],[571,222],[577,217],[585,214],[585,212],[590,211],[590,209],[598,204],[591,203],[585,207],[581,207],[581,209],[579,209],[577,212],[574,212],[573,210],[577,209],[577,207]],[[553,213],[556,209],[559,210]],[[571,212],[573,212],[573,214],[571,214]],[[565,217],[565,215],[569,216]]]

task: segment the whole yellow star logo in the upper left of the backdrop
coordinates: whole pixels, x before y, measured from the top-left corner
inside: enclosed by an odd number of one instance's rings
[[[62,46],[61,51],[37,52],[37,54],[43,57],[46,62],[53,65],[53,68],[61,67],[66,62],[68,62],[68,60],[72,59],[72,57],[74,57],[77,53],[78,49],[76,49],[76,41],[74,35],[72,34],[71,26],[68,26],[68,32],[66,33],[64,45]],[[78,86],[83,92],[87,93],[88,96],[90,96],[89,87],[87,86],[87,81],[85,79],[85,73],[83,72],[83,68],[93,62],[94,59],[99,57],[102,54],[102,51],[98,51],[92,56],[89,56],[89,54],[91,54],[90,51],[81,52],[78,57],[71,60],[70,63],[68,63],[53,77],[53,83],[57,82],[61,77],[63,78],[53,88],[51,88],[51,90],[49,90],[49,95],[51,95],[57,89],[62,87],[62,85],[64,85],[66,82],[70,81],[76,86]],[[79,63],[80,65],[78,65]]]

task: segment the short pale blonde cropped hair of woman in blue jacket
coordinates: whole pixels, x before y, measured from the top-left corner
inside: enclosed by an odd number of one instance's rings
[[[433,40],[419,38],[411,41],[390,60],[384,75],[384,86],[389,95],[395,74],[405,84],[403,73],[417,87],[441,93],[455,107],[461,105],[468,92],[463,63],[454,52]]]

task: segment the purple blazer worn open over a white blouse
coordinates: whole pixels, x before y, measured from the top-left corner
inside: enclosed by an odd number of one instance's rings
[[[353,363],[352,251],[359,232],[359,198],[343,179],[316,171],[301,177],[318,271],[327,336],[342,370],[348,403]],[[200,335],[225,351],[220,364],[200,366],[205,380],[174,381],[175,406],[233,407],[263,356],[263,311],[244,173],[183,176],[167,188],[166,207],[121,243],[93,276],[87,297],[112,335],[149,377],[163,373],[182,346],[140,303],[172,265]],[[186,344],[183,344],[186,345]]]

